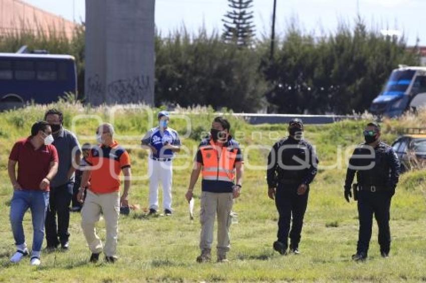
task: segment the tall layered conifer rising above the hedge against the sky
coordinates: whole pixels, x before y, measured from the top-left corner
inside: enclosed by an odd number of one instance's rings
[[[250,46],[255,33],[253,24],[253,0],[228,0],[228,11],[222,19],[224,22],[224,39],[239,46]]]

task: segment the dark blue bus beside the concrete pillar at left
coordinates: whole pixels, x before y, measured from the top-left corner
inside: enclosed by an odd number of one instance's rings
[[[77,95],[73,56],[0,53],[0,109],[50,103],[66,93]]]

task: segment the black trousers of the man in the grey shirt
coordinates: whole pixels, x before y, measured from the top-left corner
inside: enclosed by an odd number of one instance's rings
[[[47,246],[58,246],[68,241],[70,233],[68,226],[70,224],[70,202],[73,196],[74,182],[68,182],[64,185],[51,187],[49,207],[46,213],[46,241]],[[58,223],[56,222],[58,215]],[[59,240],[58,240],[59,236]]]

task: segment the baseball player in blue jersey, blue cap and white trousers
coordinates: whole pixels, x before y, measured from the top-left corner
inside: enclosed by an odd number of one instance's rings
[[[151,149],[148,161],[149,173],[149,214],[158,210],[158,182],[163,186],[163,208],[165,215],[171,215],[172,159],[180,150],[177,131],[168,127],[169,113],[158,113],[158,126],[151,128],[142,137],[142,146]]]

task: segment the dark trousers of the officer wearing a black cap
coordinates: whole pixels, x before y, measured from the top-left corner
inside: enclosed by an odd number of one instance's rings
[[[297,194],[299,184],[278,184],[275,195],[278,218],[278,241],[288,246],[290,234],[290,247],[299,246],[300,233],[302,232],[303,217],[308,205],[309,187],[302,195]],[[293,217],[293,222],[290,222]]]

